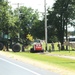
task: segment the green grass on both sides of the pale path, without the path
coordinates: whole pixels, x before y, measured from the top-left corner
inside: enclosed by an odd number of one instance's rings
[[[25,49],[30,50],[32,46],[27,46],[27,48]],[[48,43],[48,49],[49,47],[51,47],[51,44]],[[45,50],[45,44],[43,44],[43,48]],[[56,57],[56,56],[48,56],[45,54],[37,54],[37,53],[29,53],[29,52],[10,52],[12,54],[15,55],[19,55],[22,57],[27,57],[27,58],[31,58],[34,60],[38,60],[41,61],[45,64],[49,64],[49,65],[56,65],[58,67],[62,67],[62,68],[66,68],[69,70],[75,70],[75,60],[72,59],[67,59],[67,58],[61,58],[61,57]],[[65,56],[75,56],[75,51],[69,50],[69,51],[58,51],[58,47],[57,47],[57,43],[55,43],[55,51],[51,52],[50,54],[53,55],[65,55]]]

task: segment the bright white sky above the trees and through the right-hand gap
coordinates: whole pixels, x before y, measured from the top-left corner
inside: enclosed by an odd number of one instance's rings
[[[18,3],[20,6],[26,6],[26,7],[31,7],[32,9],[38,11],[44,12],[44,0],[8,0],[9,4],[12,5],[13,9],[18,7]],[[46,6],[47,7],[52,7],[54,4],[55,0],[46,0]],[[74,31],[74,28],[72,26],[68,27],[68,31]]]

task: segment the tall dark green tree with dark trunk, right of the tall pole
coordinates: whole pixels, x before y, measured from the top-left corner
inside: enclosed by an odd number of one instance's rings
[[[71,19],[74,19],[74,0],[56,0],[53,11],[50,11],[49,21],[52,23],[52,25],[55,27],[55,30],[57,30],[57,37],[58,40],[61,42],[62,49],[64,49],[63,43],[64,43],[64,33],[65,33],[65,26],[66,26],[66,37],[67,37],[67,25],[70,22]],[[52,15],[51,15],[52,14]],[[67,39],[67,38],[66,38]]]

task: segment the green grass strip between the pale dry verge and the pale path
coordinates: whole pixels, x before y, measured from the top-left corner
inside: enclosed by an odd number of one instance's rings
[[[13,53],[13,54],[16,54],[22,57],[31,58],[38,61],[42,61],[49,65],[54,64],[69,70],[75,70],[75,60],[55,57],[55,56],[48,56],[44,54],[27,53],[27,52],[19,52],[19,53]]]

